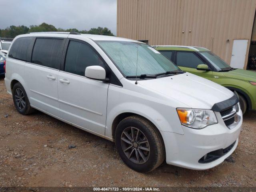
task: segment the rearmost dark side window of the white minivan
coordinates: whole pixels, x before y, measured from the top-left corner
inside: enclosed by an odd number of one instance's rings
[[[33,37],[21,37],[13,42],[8,57],[30,62]]]

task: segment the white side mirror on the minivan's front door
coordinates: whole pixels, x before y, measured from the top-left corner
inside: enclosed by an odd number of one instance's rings
[[[103,67],[97,65],[86,67],[84,76],[95,80],[108,80],[106,78],[106,70]]]

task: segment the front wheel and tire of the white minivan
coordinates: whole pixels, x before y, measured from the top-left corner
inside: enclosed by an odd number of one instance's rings
[[[150,172],[164,161],[162,137],[156,127],[144,118],[124,118],[116,128],[115,143],[124,163],[138,172]]]

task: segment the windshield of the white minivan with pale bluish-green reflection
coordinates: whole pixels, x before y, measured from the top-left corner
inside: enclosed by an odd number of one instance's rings
[[[137,57],[137,76],[152,77],[182,72],[164,55],[147,44],[129,41],[97,41],[97,43],[126,78],[136,76]]]

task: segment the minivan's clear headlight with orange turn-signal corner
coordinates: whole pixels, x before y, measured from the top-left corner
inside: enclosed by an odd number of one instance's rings
[[[177,109],[180,123],[193,129],[202,129],[218,123],[216,115],[208,109]]]

